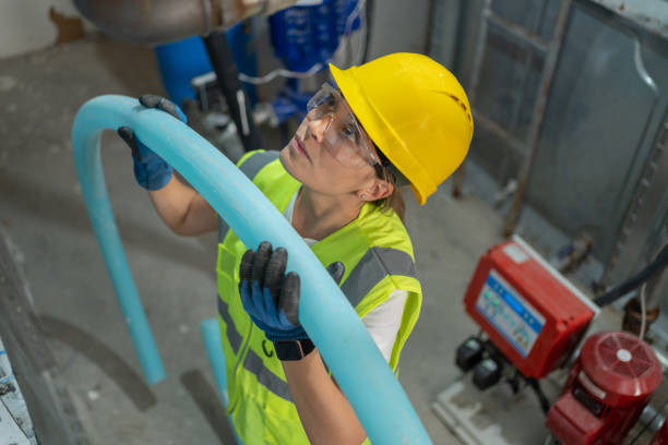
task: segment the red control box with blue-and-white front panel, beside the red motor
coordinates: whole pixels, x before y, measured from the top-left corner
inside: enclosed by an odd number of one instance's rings
[[[480,258],[464,305],[526,377],[544,377],[577,345],[598,308],[522,238]]]

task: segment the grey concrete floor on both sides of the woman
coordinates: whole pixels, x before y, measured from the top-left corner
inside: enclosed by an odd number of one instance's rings
[[[0,63],[0,224],[23,253],[37,312],[92,444],[231,443],[199,333],[216,316],[215,234],[166,229],[114,133],[103,161],[130,267],[167,378],[154,387],[139,361],[93,234],[71,154],[77,108],[102,94],[163,94],[153,52],[90,37]],[[276,148],[276,147],[267,147]],[[433,443],[456,440],[431,411],[457,375],[456,346],[475,332],[462,297],[479,255],[500,241],[482,201],[408,201],[422,313],[404,349],[401,382]]]

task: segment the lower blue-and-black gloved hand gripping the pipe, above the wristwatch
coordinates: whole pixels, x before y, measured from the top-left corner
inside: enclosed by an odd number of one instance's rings
[[[299,324],[299,275],[285,274],[287,251],[272,249],[264,241],[258,252],[249,249],[239,266],[239,294],[243,309],[253,323],[264,330],[271,341],[309,338]],[[327,267],[338,284],[343,277],[342,263]]]

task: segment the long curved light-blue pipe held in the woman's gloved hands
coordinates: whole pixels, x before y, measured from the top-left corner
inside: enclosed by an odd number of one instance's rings
[[[164,377],[151,329],[130,274],[106,191],[99,136],[128,125],[174,166],[225,219],[241,241],[289,251],[288,270],[301,277],[300,322],[353,406],[371,442],[431,441],[392,370],[341,289],[301,237],[253,183],[206,140],[170,115],[124,96],[100,96],[74,119],[74,160],[91,220],[128,327],[150,383]],[[271,221],[267,224],[266,221]]]

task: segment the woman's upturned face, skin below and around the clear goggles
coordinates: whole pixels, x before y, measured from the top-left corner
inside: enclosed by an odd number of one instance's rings
[[[356,144],[342,141],[341,134],[350,132],[346,127],[351,119],[350,113],[347,106],[338,107],[335,115],[327,117],[318,117],[318,113],[310,111],[293,140],[281,151],[281,163],[293,177],[319,193],[353,193],[373,197],[371,189],[384,181],[377,177],[374,167],[360,151],[351,149]],[[360,136],[362,140],[357,144],[366,143],[373,151],[363,131]],[[378,154],[373,152],[372,155],[378,159]]]

